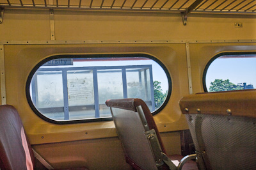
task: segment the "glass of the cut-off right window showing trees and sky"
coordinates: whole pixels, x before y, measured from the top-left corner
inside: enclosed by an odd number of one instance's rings
[[[220,56],[210,63],[205,72],[205,88],[209,92],[254,89],[255,65],[255,54]]]

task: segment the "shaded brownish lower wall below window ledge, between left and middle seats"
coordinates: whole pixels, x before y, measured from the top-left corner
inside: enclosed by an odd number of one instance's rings
[[[87,167],[88,169],[129,170],[118,137],[108,139],[89,139],[66,143],[34,145],[33,148],[54,169],[67,167]]]

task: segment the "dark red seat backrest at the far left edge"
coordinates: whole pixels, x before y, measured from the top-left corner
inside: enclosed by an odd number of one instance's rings
[[[12,105],[0,105],[0,169],[33,169],[34,156],[22,121]]]

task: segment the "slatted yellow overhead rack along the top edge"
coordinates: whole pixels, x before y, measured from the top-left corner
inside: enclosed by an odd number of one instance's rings
[[[184,12],[196,0],[0,0],[1,8]],[[192,12],[256,13],[255,0],[204,0]]]

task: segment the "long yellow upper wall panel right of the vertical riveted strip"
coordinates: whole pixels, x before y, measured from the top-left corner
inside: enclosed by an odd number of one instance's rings
[[[250,15],[179,13],[55,12],[56,40],[233,40],[255,39]],[[234,27],[243,22],[243,27]]]

